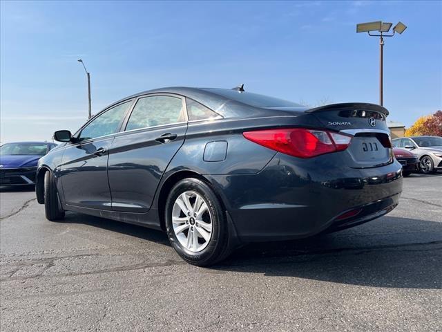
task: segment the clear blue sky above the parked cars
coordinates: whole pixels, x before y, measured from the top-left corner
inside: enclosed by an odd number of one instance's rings
[[[442,108],[441,1],[1,1],[1,142],[50,140],[160,86],[231,88],[294,102],[378,102],[378,39],[363,21],[403,21],[385,40],[384,105],[407,126]]]

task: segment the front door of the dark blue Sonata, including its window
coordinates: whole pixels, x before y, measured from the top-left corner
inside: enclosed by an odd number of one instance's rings
[[[90,121],[64,151],[59,176],[68,205],[111,210],[108,149],[131,102],[117,105]]]

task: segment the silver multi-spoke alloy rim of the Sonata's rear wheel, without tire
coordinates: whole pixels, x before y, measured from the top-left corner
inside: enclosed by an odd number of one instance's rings
[[[173,232],[181,245],[191,252],[200,252],[212,236],[212,216],[204,198],[197,192],[180,194],[173,204]]]

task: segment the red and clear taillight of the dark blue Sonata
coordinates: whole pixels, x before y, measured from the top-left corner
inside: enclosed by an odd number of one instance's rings
[[[283,154],[311,158],[347,149],[351,136],[329,131],[291,128],[246,131],[245,138]]]

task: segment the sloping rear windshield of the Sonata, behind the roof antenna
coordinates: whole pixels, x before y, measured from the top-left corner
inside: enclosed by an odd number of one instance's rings
[[[302,105],[296,102],[289,102],[279,98],[269,97],[268,95],[259,95],[258,93],[242,92],[228,89],[205,89],[206,91],[222,95],[225,98],[236,100],[253,107],[300,107]]]

